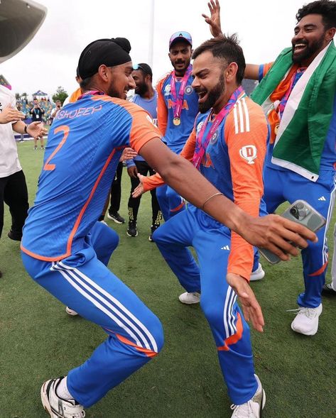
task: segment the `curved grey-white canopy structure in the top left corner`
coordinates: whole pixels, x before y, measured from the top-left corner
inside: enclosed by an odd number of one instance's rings
[[[27,45],[46,15],[45,6],[33,0],[0,0],[0,63]]]

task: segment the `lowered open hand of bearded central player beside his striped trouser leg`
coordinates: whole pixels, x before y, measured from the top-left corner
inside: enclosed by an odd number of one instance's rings
[[[244,277],[234,273],[227,273],[227,282],[239,297],[246,321],[251,321],[256,331],[263,332],[265,325],[264,316],[249,283],[246,282]]]

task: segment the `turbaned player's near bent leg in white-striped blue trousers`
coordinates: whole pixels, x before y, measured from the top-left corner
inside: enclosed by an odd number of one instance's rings
[[[92,356],[67,375],[67,390],[81,405],[93,405],[161,350],[158,318],[97,259],[92,247],[58,263],[26,254],[22,258],[39,285],[108,334]]]

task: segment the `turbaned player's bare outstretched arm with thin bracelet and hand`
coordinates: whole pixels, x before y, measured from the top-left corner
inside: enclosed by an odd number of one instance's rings
[[[239,233],[253,246],[268,248],[281,260],[288,260],[288,254],[298,255],[298,248],[295,246],[306,248],[306,239],[317,240],[315,233],[281,216],[268,215],[259,218],[246,214],[231,200],[218,194],[215,186],[193,164],[170,151],[160,138],[153,138],[145,143],[139,153],[188,202]]]

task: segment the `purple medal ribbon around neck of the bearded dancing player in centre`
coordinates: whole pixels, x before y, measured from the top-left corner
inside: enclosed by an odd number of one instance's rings
[[[210,116],[212,115],[212,112],[210,112],[210,114],[207,115],[207,119],[202,124],[202,128],[200,128],[200,133],[197,135],[197,138],[196,138],[195,153],[193,156],[193,165],[195,165],[197,170],[199,170],[200,168],[200,163],[202,161],[203,155],[205,154],[205,150],[207,149],[207,145],[209,145],[212,135],[215,133],[218,126],[220,126],[220,123],[222,122],[224,117],[227,116],[227,114],[232,109],[234,104],[236,104],[238,97],[243,92],[244,90],[242,86],[238,87],[238,89],[233,92],[232,96],[227,101],[227,104],[225,104],[225,106],[220,111],[220,113],[216,115],[215,120],[212,122],[210,131],[207,133],[207,137],[205,138],[205,141],[202,141],[204,133],[205,133],[205,128],[207,127],[207,123],[210,119]]]

